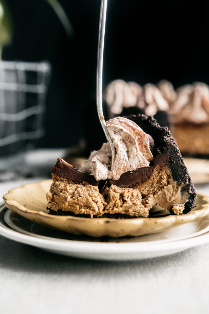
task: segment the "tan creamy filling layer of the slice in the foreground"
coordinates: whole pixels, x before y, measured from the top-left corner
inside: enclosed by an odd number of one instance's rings
[[[148,217],[150,208],[157,204],[178,215],[182,214],[187,202],[187,190],[187,183],[180,185],[173,181],[169,166],[163,163],[157,165],[149,180],[138,187],[123,188],[112,184],[101,193],[97,186],[75,184],[53,175],[47,207],[91,217],[105,213]]]

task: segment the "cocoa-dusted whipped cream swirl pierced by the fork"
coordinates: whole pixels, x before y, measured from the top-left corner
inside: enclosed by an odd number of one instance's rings
[[[113,118],[106,125],[116,149],[112,170],[111,149],[109,143],[103,143],[101,149],[91,152],[89,159],[82,163],[80,171],[92,174],[96,180],[118,180],[124,172],[149,166],[153,160],[150,145],[154,145],[149,134],[135,122],[123,117]]]

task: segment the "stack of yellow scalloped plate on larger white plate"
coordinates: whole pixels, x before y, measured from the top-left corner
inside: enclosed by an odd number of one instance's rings
[[[4,195],[1,235],[62,255],[115,261],[169,255],[209,242],[209,202],[201,193],[185,215],[156,207],[151,218],[91,219],[49,215],[50,183],[27,184]]]

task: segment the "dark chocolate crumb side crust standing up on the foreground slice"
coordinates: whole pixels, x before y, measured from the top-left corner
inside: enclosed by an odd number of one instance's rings
[[[146,116],[143,114],[138,116],[130,115],[126,116],[126,118],[135,122],[145,133],[148,133],[154,139],[154,156],[158,154],[167,154],[169,156],[168,165],[172,171],[173,180],[179,182],[180,184],[188,182],[185,189],[189,194],[187,202],[185,203],[183,214],[188,213],[194,206],[196,192],[180,150],[168,127],[160,127],[152,116]]]

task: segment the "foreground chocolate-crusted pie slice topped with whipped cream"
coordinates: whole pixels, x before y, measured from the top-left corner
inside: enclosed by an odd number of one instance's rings
[[[109,143],[92,151],[79,170],[58,158],[47,193],[50,214],[149,217],[155,204],[188,213],[196,192],[168,128],[140,114],[106,124],[116,149],[112,170]]]

